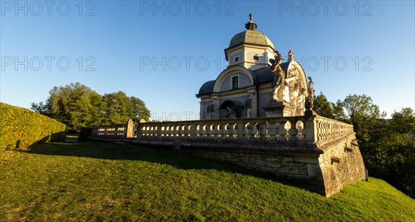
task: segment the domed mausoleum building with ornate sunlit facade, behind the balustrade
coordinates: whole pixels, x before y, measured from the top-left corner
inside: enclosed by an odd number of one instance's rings
[[[285,79],[284,90],[280,89],[284,91],[282,98],[273,98],[275,72],[270,68],[277,53],[273,42],[257,30],[250,14],[246,30],[235,34],[225,49],[228,68],[205,82],[196,94],[201,99],[201,120],[304,115],[308,84],[292,49],[287,61],[279,64]],[[279,109],[275,107],[278,105]]]

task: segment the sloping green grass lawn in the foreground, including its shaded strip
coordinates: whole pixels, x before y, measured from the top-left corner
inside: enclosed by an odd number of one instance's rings
[[[102,142],[0,154],[0,221],[414,221],[380,179],[324,196],[226,163]]]

